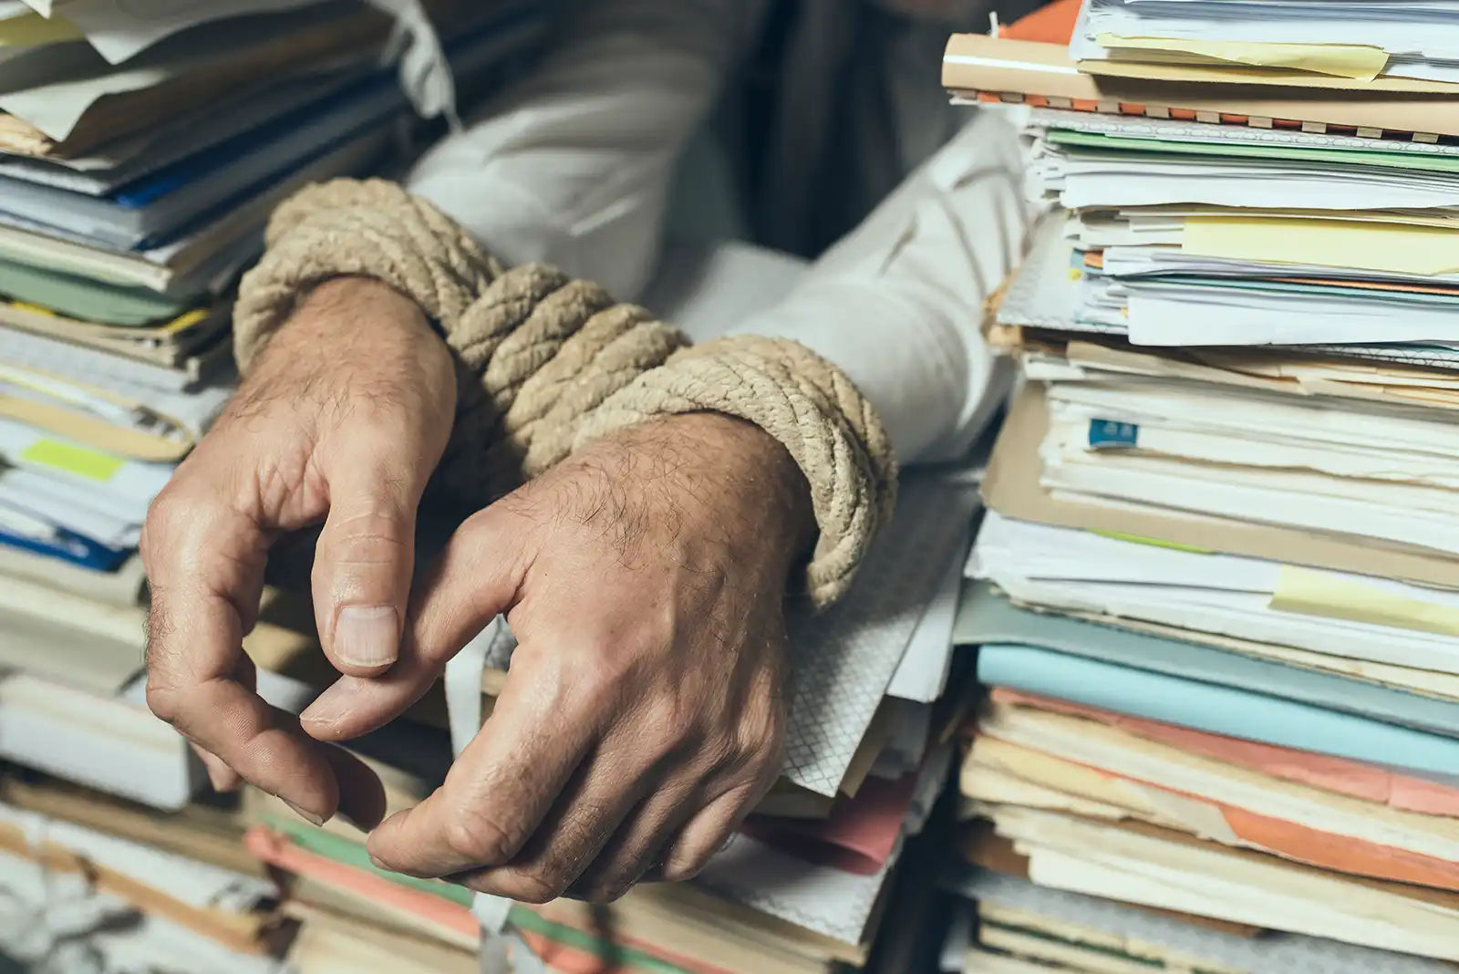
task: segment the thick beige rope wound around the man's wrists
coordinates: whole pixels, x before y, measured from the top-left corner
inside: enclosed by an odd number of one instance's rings
[[[384,181],[309,187],[274,213],[239,287],[248,369],[314,284],[374,277],[414,299],[458,363],[439,486],[484,506],[573,451],[662,416],[715,411],[779,440],[810,483],[820,535],[805,585],[836,601],[890,518],[896,461],[880,418],[836,366],[794,341],[690,347],[649,312],[541,264],[503,270],[429,203]]]

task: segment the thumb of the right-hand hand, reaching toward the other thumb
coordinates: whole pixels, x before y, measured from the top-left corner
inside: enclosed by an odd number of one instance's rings
[[[395,665],[375,678],[341,677],[301,714],[305,729],[347,741],[404,713],[463,646],[515,605],[535,542],[535,532],[500,507],[471,516],[416,593]]]

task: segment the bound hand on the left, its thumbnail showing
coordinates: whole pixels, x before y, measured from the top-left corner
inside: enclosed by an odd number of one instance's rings
[[[322,521],[312,588],[325,653],[355,677],[395,662],[416,507],[454,413],[454,363],[420,308],[372,280],[333,280],[152,504],[147,703],[203,752],[214,787],[242,774],[306,818],[379,819],[374,774],[254,693],[242,637],[270,544]]]

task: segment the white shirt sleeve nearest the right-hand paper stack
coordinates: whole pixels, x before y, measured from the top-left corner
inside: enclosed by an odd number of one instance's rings
[[[982,306],[1023,255],[1032,213],[1017,133],[978,112],[808,271],[734,331],[795,338],[840,366],[903,464],[969,449],[1011,388]]]

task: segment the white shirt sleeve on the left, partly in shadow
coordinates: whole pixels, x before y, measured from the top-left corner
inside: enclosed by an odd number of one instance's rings
[[[766,0],[584,0],[533,74],[407,178],[508,264],[547,261],[635,299],[680,150]]]

